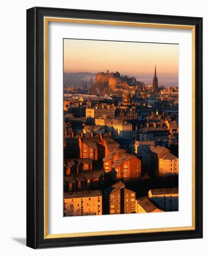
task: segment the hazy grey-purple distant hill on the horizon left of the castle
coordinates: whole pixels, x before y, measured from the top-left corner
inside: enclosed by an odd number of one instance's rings
[[[64,73],[64,87],[68,87],[71,85],[81,87],[82,81],[85,81],[85,79],[87,81],[87,85],[89,85],[91,77],[94,83],[96,74],[97,73],[89,73],[89,72]]]

